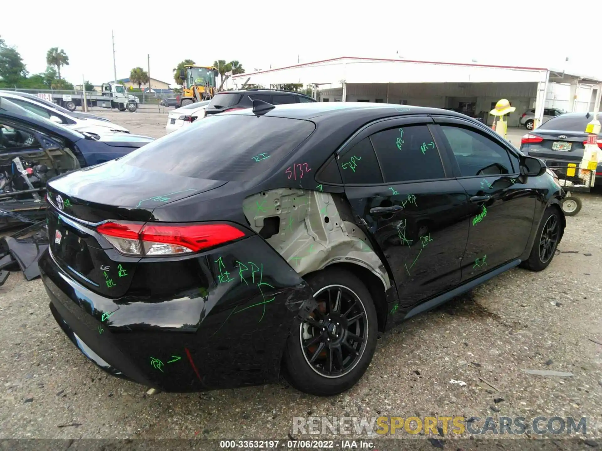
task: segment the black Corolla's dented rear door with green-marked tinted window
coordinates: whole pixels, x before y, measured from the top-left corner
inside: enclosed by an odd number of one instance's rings
[[[356,135],[338,155],[353,211],[393,274],[400,298],[394,314],[461,278],[467,194],[450,176],[431,123],[428,117],[382,121]]]

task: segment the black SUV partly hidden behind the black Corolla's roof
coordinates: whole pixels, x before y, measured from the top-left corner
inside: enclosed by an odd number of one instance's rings
[[[287,105],[289,103],[314,103],[309,96],[295,91],[275,89],[247,89],[240,91],[224,91],[217,93],[205,108],[205,116],[236,111],[237,109],[251,108],[253,100],[263,100],[270,105]]]

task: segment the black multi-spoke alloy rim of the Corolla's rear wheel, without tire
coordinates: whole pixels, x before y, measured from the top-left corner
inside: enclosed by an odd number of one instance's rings
[[[303,357],[319,375],[340,378],[353,370],[364,354],[367,313],[359,296],[339,284],[321,288],[314,298],[318,307],[299,328]]]

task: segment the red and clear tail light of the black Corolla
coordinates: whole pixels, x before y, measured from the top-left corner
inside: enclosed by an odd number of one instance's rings
[[[105,222],[96,230],[120,253],[139,256],[195,253],[244,236],[244,232],[228,224],[114,221]]]

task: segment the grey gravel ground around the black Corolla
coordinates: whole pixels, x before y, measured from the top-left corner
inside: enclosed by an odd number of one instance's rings
[[[164,134],[166,114],[101,114]],[[0,438],[282,439],[294,416],[381,415],[588,417],[588,437],[600,437],[602,198],[582,198],[546,271],[513,269],[384,334],[364,378],[329,398],[284,383],[149,396],[93,366],[55,324],[40,280],[13,274],[0,287]]]

